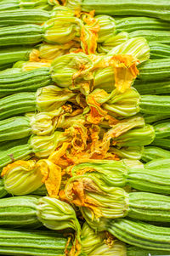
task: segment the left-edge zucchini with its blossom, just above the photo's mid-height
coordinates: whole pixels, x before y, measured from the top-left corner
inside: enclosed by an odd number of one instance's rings
[[[75,94],[68,88],[59,88],[54,85],[38,88],[36,93],[23,92],[8,95],[0,99],[0,108],[2,110],[0,120],[36,111],[54,111],[57,116],[59,113],[71,111],[71,106],[66,107],[64,105],[73,96]]]

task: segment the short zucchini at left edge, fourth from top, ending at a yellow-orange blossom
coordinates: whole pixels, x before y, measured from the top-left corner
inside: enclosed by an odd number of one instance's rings
[[[32,48],[30,47],[5,47],[0,49],[0,68],[19,60],[29,60]]]

